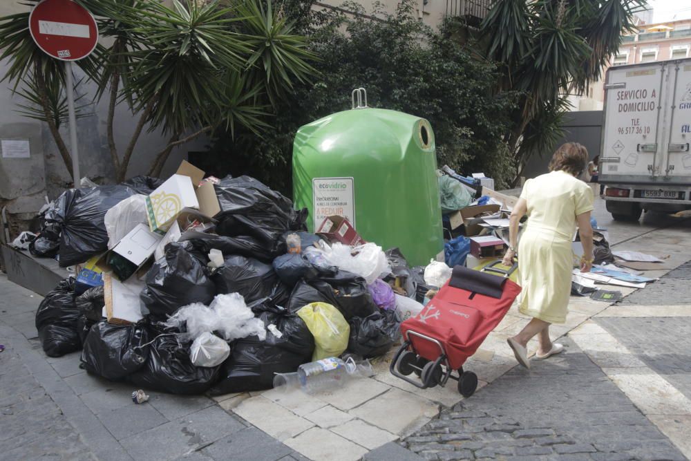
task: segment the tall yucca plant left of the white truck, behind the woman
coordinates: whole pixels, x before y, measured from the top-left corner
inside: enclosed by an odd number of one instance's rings
[[[567,95],[601,77],[646,0],[495,0],[482,23],[486,57],[502,64],[500,91],[522,95],[505,136],[514,184],[527,160],[561,137]]]

